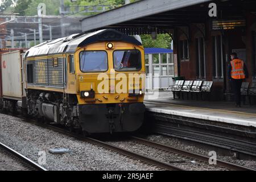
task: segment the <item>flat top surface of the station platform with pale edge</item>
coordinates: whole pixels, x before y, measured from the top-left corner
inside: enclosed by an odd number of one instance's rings
[[[236,107],[234,102],[174,100],[172,92],[159,92],[158,96],[146,94],[147,111],[181,117],[207,119],[256,128],[256,106]]]

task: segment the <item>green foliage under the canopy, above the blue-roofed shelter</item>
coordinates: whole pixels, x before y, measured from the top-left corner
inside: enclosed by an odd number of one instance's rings
[[[171,36],[168,34],[158,34],[156,40],[151,38],[151,35],[141,35],[144,47],[171,48]]]

